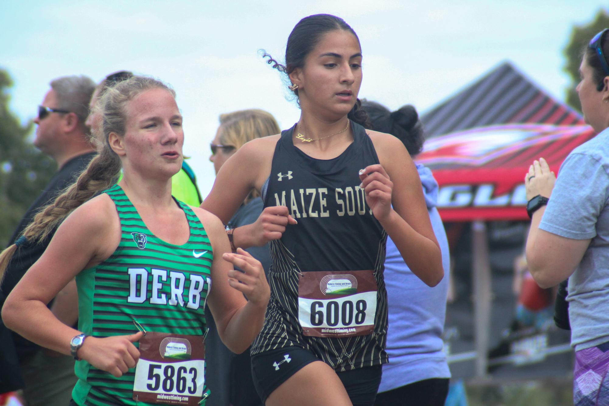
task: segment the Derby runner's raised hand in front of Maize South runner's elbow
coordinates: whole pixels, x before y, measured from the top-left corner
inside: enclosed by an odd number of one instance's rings
[[[266,308],[270,287],[260,261],[241,248],[237,248],[237,253],[225,253],[222,258],[243,270],[228,271],[228,284],[243,293],[248,301]]]

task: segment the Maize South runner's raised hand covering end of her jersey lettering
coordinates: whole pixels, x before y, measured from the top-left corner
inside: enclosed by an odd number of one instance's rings
[[[372,209],[372,214],[377,220],[382,221],[392,210],[393,182],[381,164],[370,165],[360,170],[359,179],[362,181],[360,187],[364,189],[366,203]]]

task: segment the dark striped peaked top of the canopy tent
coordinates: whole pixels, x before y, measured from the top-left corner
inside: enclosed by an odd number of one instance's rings
[[[421,121],[428,138],[494,124],[584,124],[577,111],[552,99],[507,61]]]

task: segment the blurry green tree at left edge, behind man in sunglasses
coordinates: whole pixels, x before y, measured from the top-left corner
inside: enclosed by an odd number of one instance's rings
[[[28,141],[33,122],[21,125],[9,110],[12,85],[9,73],[0,69],[0,250],[57,167]]]

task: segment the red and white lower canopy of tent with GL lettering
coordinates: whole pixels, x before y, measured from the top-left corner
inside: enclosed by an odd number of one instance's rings
[[[438,211],[447,222],[528,220],[524,175],[543,157],[555,173],[594,131],[588,125],[505,124],[429,139],[417,162],[440,185]]]

